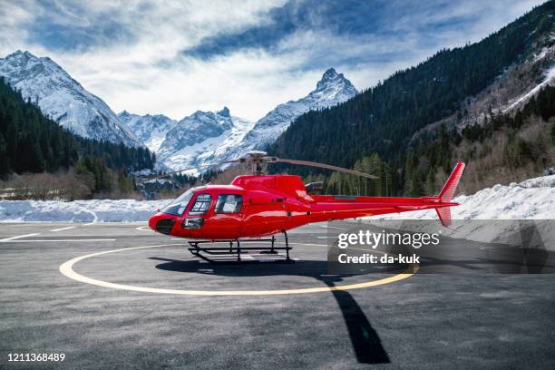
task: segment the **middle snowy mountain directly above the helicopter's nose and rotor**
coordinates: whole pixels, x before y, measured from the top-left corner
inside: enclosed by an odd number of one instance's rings
[[[229,113],[197,111],[168,131],[157,155],[170,169],[179,170],[223,161],[244,140],[254,122]]]

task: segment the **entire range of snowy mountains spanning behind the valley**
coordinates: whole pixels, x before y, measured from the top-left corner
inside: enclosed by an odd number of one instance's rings
[[[343,73],[329,68],[303,98],[278,104],[257,122],[218,112],[193,112],[181,120],[163,114],[112,112],[49,57],[16,51],[0,58],[0,75],[45,115],[84,138],[146,146],[170,169],[227,161],[276,140],[298,115],[351,99],[358,93]]]

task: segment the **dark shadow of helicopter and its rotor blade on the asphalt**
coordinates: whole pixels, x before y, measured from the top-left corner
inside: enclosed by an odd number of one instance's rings
[[[164,261],[156,268],[173,272],[209,274],[222,277],[270,277],[276,275],[314,277],[326,284],[327,287],[336,287],[336,283],[342,281],[340,276],[326,275],[327,261],[307,260],[287,265],[266,264],[264,268],[260,268],[259,264],[210,264],[208,265],[210,271],[207,272],[206,266],[196,260],[158,257],[151,257],[151,259]],[[390,363],[391,361],[384,346],[382,346],[379,335],[355,298],[346,290],[332,290],[331,293],[336,299],[337,306],[345,320],[356,360],[363,364]]]

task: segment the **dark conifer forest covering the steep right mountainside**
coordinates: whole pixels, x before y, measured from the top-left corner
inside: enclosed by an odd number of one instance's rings
[[[479,43],[442,50],[347,102],[307,112],[268,151],[277,157],[347,168],[377,153],[391,169],[392,194],[400,194],[411,181],[412,174],[404,169],[414,161],[408,156],[414,132],[458,112],[468,96],[481,92],[512,63],[555,43],[550,37],[555,31],[554,15],[555,1],[550,1]],[[274,167],[277,171],[285,168]],[[287,167],[287,171],[318,173],[298,167]],[[409,191],[416,192],[420,189]]]

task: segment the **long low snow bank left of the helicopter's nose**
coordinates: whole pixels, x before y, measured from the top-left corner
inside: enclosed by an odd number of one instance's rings
[[[170,200],[2,200],[0,222],[146,221]]]

